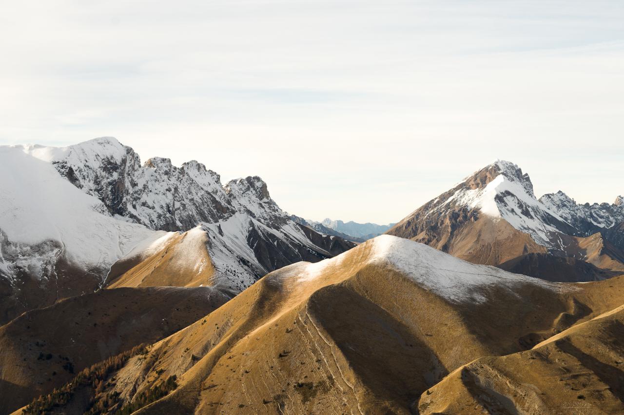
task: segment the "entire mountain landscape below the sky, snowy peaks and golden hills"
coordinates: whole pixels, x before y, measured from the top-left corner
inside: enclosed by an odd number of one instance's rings
[[[624,199],[496,161],[315,222],[114,138],[2,146],[0,351],[2,414],[621,414]]]

